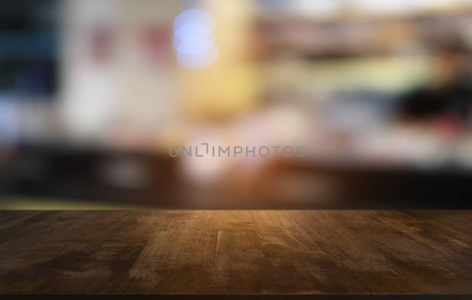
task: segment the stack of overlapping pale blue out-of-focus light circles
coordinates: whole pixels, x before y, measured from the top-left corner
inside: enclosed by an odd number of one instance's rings
[[[216,22],[200,9],[189,9],[177,16],[174,22],[174,48],[177,60],[186,68],[202,69],[218,58],[215,44]]]

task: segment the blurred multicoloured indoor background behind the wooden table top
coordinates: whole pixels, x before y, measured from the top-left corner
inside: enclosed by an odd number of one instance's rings
[[[1,0],[0,208],[471,209],[471,50],[472,0]]]

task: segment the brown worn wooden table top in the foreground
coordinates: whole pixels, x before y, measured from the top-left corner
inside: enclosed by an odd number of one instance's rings
[[[470,299],[472,211],[2,211],[0,293]]]

